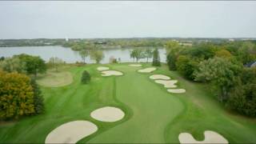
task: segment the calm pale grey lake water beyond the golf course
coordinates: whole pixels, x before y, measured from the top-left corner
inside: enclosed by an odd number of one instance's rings
[[[121,58],[121,62],[133,62],[134,60],[130,58],[130,50],[132,49],[103,50],[105,57],[101,63],[108,63],[111,56],[114,56],[114,58]],[[166,50],[159,49],[159,53],[161,62],[166,62]],[[80,57],[78,51],[74,51],[70,48],[62,46],[0,47],[0,57],[12,57],[15,54],[30,54],[40,56],[46,62],[48,62],[51,57],[62,58],[62,60],[67,63],[82,62],[82,58]],[[152,58],[150,59],[150,62],[151,60]],[[86,62],[94,63],[94,60],[87,57]],[[146,58],[139,60],[139,62],[146,62]]]

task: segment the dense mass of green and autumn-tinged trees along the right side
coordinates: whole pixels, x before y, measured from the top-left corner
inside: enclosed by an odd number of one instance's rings
[[[252,42],[200,43],[192,47],[167,42],[167,64],[185,78],[209,83],[218,100],[241,114],[256,116],[256,46]]]

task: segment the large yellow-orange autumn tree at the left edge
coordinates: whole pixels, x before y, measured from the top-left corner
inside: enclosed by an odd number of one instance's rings
[[[0,71],[0,119],[34,114],[34,91],[25,74]]]

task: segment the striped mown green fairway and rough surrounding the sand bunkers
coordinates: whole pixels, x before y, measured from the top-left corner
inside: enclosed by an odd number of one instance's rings
[[[162,66],[151,74],[166,74],[178,79],[185,94],[170,94],[162,85],[136,72],[139,67],[127,63],[105,65],[124,73],[102,77],[99,65],[70,67],[74,82],[62,87],[43,87],[46,113],[0,123],[2,142],[44,142],[57,126],[74,120],[89,120],[98,131],[80,142],[178,142],[178,134],[190,132],[198,140],[204,130],[214,130],[229,142],[256,142],[256,120],[228,112],[216,101],[207,85],[190,82],[177,72]],[[150,64],[143,64],[143,67]],[[90,84],[82,85],[83,70],[88,70]],[[102,106],[118,106],[126,116],[118,122],[99,122],[90,112]]]

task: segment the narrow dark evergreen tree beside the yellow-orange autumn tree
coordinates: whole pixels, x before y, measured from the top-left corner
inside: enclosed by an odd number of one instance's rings
[[[41,114],[44,112],[45,110],[45,106],[43,103],[43,97],[42,97],[42,92],[37,84],[37,82],[35,81],[35,78],[31,79],[30,85],[33,88],[34,91],[34,110],[36,114]]]

